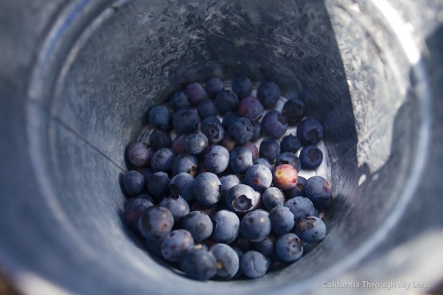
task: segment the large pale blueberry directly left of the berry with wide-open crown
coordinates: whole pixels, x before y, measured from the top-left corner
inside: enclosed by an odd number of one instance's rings
[[[204,206],[211,206],[220,199],[221,182],[217,175],[204,172],[195,178],[192,189],[197,202]]]

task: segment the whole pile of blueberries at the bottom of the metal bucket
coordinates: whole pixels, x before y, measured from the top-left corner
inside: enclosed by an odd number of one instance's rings
[[[125,222],[151,253],[197,280],[259,278],[325,238],[331,185],[298,176],[323,161],[323,125],[305,118],[302,100],[281,111],[279,100],[275,82],[255,91],[238,76],[232,87],[192,82],[150,109],[148,143],[127,149],[123,190]]]

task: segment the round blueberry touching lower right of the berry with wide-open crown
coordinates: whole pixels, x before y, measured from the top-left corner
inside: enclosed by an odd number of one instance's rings
[[[263,211],[246,213],[240,222],[240,233],[251,242],[260,242],[271,233],[271,220]]]

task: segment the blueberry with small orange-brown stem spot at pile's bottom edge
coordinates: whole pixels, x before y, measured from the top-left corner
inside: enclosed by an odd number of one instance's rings
[[[216,278],[221,280],[229,280],[237,274],[239,270],[239,257],[237,253],[227,244],[215,244],[209,250],[213,253],[215,260],[217,260]]]

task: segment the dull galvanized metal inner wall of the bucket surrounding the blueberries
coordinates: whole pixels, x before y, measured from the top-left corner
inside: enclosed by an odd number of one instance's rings
[[[80,293],[269,294],[307,289],[378,243],[410,178],[421,117],[409,61],[372,3],[73,1],[61,11],[26,109],[30,166],[44,190],[27,222],[47,226],[33,249],[10,250],[26,253],[17,267]],[[150,107],[188,82],[235,75],[273,80],[287,98],[302,93],[325,126],[335,202],[325,240],[298,262],[258,280],[201,283],[162,265],[127,229],[119,179]]]

